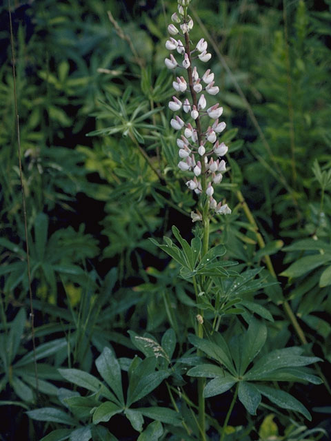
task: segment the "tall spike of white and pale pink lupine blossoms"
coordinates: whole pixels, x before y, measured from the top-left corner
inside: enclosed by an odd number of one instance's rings
[[[207,104],[208,95],[218,94],[219,88],[214,83],[214,74],[210,69],[200,76],[197,67],[192,65],[194,59],[205,63],[212,55],[207,52],[208,43],[204,39],[200,39],[195,48],[190,50],[189,32],[193,28],[193,21],[187,14],[190,0],[179,0],[178,3],[178,13],[172,14],[173,23],[168,26],[168,32],[172,37],[166,41],[165,48],[171,53],[170,57],[165,59],[165,65],[171,70],[181,68],[187,72],[188,82],[184,76],[177,76],[172,85],[179,94],[190,91],[190,99],[172,96],[169,107],[173,112],[182,109],[185,114],[189,114],[194,125],[193,127],[190,121],[183,121],[178,115],[170,121],[174,130],[181,131],[181,136],[177,139],[181,158],[178,166],[183,172],[191,171],[194,174],[194,177],[186,183],[189,189],[197,194],[205,192],[209,198],[210,208],[217,214],[230,214],[231,209],[227,204],[217,203],[212,197],[214,185],[221,182],[226,170],[222,157],[228,152],[228,146],[217,140],[218,134],[223,132],[226,126],[223,121],[219,121],[223,107],[220,107],[219,103],[211,107]],[[177,61],[179,57],[180,62]],[[202,118],[212,120],[205,130],[201,129]],[[193,222],[202,220],[199,211],[192,212],[191,216]]]

